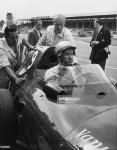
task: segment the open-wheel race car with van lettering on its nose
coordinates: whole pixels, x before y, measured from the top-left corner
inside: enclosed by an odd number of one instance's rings
[[[54,47],[27,55],[17,73],[26,79],[10,89],[14,135],[31,150],[116,150],[116,83],[96,64],[73,66],[71,84],[65,70],[59,85],[46,83],[45,72],[57,64]]]

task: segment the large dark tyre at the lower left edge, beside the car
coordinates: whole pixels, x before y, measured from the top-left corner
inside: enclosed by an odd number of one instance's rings
[[[14,145],[17,137],[17,117],[10,92],[0,89],[0,145]]]

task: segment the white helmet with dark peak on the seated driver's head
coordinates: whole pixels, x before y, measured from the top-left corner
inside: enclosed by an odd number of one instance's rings
[[[75,55],[75,49],[76,47],[73,46],[69,41],[61,41],[59,42],[56,47],[55,47],[55,53],[56,55],[59,57],[62,55],[62,52],[64,50],[66,50],[67,48],[71,48],[74,51],[74,55]]]

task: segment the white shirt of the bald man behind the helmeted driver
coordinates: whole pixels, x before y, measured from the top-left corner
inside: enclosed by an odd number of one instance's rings
[[[37,45],[42,46],[55,46],[61,41],[69,41],[73,46],[75,46],[74,38],[72,33],[66,27],[63,27],[62,32],[55,36],[54,25],[47,27],[47,30],[40,38]]]

